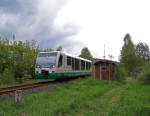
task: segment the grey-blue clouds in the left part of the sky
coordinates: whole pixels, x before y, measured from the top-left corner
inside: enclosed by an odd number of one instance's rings
[[[68,37],[78,33],[78,27],[71,23],[55,23],[58,12],[66,2],[67,0],[14,0],[9,4],[2,0],[0,35],[9,38],[15,34],[19,40],[35,39],[41,48],[53,48],[58,44],[66,45],[64,47],[67,48],[71,41]]]

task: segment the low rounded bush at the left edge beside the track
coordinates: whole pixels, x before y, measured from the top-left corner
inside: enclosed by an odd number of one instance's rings
[[[15,82],[14,74],[12,71],[5,69],[0,75],[0,84],[12,84]]]

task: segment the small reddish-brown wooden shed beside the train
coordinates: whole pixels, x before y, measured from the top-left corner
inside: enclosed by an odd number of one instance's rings
[[[95,63],[95,78],[99,80],[115,80],[117,62],[98,59]]]

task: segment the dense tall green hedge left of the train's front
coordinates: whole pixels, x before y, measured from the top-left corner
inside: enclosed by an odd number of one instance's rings
[[[7,69],[13,73],[16,80],[22,81],[26,75],[33,77],[36,55],[37,45],[34,40],[22,42],[1,38],[0,74],[5,74]]]

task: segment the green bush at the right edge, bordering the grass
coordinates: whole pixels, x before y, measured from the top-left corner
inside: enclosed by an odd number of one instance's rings
[[[150,84],[150,66],[145,65],[141,69],[138,80],[144,84]]]

